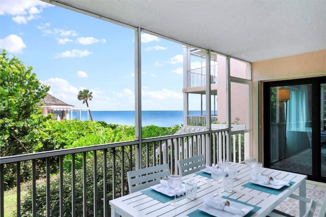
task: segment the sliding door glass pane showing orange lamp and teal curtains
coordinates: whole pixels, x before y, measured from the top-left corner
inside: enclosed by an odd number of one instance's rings
[[[270,167],[311,175],[311,84],[272,87],[270,96]]]

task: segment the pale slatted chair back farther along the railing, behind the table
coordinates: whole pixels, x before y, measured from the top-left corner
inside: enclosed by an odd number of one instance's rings
[[[201,169],[206,168],[205,157],[203,154],[201,154],[195,157],[179,160],[178,168],[179,168],[179,174],[181,176],[198,172]]]

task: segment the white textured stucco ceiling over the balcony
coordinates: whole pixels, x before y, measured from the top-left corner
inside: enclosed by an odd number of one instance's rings
[[[255,62],[326,49],[326,0],[43,0]]]

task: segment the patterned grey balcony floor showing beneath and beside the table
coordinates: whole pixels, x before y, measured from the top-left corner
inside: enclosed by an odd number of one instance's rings
[[[306,182],[306,197],[317,201],[322,201],[326,196],[326,184],[320,182],[313,182],[307,180]],[[299,195],[298,190],[294,192],[295,195]],[[308,207],[308,204],[307,204]],[[299,201],[293,198],[287,198],[276,209],[285,212],[293,216],[299,216]],[[318,216],[320,207],[317,206],[314,216]]]

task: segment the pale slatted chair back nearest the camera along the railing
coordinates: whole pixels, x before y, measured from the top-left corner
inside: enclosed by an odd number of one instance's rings
[[[158,184],[160,179],[168,178],[169,175],[170,168],[168,164],[128,171],[129,193],[147,189],[152,185]]]

